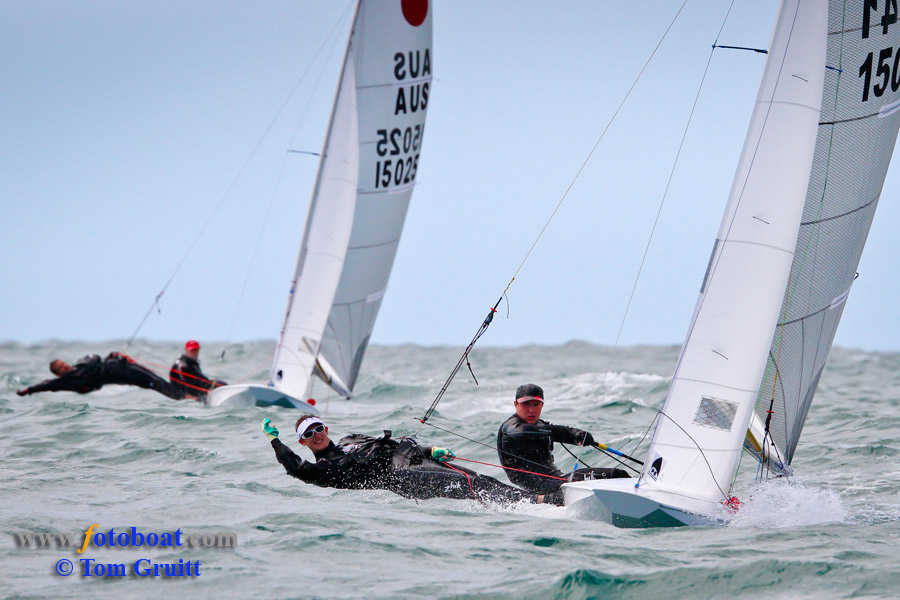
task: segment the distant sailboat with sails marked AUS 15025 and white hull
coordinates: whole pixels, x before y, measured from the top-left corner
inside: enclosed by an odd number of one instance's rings
[[[415,184],[431,87],[428,0],[360,0],[269,379],[212,405],[315,412],[315,377],[350,397]]]

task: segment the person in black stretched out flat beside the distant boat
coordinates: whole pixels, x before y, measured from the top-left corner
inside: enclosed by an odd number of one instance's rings
[[[57,358],[50,363],[50,371],[56,375],[55,379],[47,379],[24,390],[17,390],[16,393],[20,396],[61,391],[87,394],[99,390],[107,383],[117,383],[155,390],[176,400],[184,397],[168,381],[118,352],[110,352],[105,359],[96,354],[85,356],[74,367]]]

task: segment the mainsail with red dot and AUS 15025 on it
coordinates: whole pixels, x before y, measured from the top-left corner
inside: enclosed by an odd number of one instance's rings
[[[431,88],[428,2],[360,7],[360,179],[340,284],[322,337],[319,371],[350,395],[369,343],[412,196]],[[390,31],[391,35],[384,35]]]

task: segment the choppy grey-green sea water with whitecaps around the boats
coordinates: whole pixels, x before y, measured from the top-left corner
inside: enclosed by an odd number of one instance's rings
[[[204,370],[265,377],[272,342],[208,344]],[[105,355],[115,343],[0,344],[0,596],[9,598],[897,598],[900,597],[900,353],[837,348],[795,456],[791,483],[755,484],[725,527],[623,530],[565,508],[416,502],[383,491],[317,488],[288,477],[260,431],[270,416],[297,449],[284,408],[221,410],[107,386],[19,398],[55,357]],[[175,343],[129,353],[168,365]],[[322,393],[337,439],[410,434],[458,348],[370,348],[352,401]],[[544,417],[626,451],[660,407],[677,347],[479,348],[479,384],[460,372],[423,443],[496,463],[516,386],[544,387]],[[482,442],[488,447],[482,446]],[[295,450],[297,451],[297,450]],[[305,452],[305,451],[304,451]],[[596,454],[583,457],[610,466]],[[557,463],[574,459],[557,449]],[[466,463],[468,465],[468,463]],[[499,469],[476,470],[505,480]],[[233,532],[233,548],[20,547],[21,533]],[[81,559],[128,567],[200,561],[200,576],[81,576]],[[62,559],[74,573],[55,573]],[[143,563],[145,566],[148,563]]]

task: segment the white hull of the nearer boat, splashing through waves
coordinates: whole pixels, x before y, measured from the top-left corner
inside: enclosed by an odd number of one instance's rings
[[[712,516],[718,507],[646,488],[637,479],[604,479],[563,484],[566,507],[578,518],[606,521],[616,527],[681,527],[721,525]],[[683,502],[678,502],[682,500]],[[675,504],[681,506],[675,506]]]

